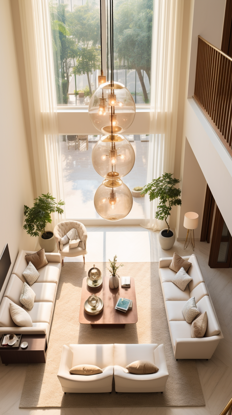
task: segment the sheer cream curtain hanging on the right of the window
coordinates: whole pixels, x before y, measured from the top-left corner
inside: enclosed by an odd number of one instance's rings
[[[154,1],[147,183],[174,171],[183,8],[184,0]],[[156,208],[145,195],[143,227],[167,226],[155,218]]]

